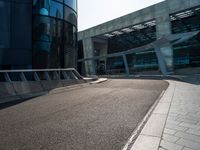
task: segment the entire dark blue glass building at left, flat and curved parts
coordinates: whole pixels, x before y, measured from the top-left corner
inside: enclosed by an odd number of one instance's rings
[[[76,0],[0,0],[0,69],[76,67]]]

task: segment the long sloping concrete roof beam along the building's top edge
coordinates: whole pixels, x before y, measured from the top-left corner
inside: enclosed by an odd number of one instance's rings
[[[184,9],[198,6],[200,0],[166,0],[128,15],[97,25],[78,33],[78,40],[91,38],[125,27],[136,25],[152,19],[162,19],[163,15],[172,14]],[[164,17],[163,19],[166,20]],[[167,20],[166,20],[167,21]],[[166,23],[166,22],[165,22]],[[165,28],[168,28],[167,26]]]

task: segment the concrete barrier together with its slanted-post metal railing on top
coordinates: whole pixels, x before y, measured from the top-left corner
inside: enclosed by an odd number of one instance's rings
[[[85,83],[74,68],[0,70],[0,81],[0,103],[32,98],[55,88]]]

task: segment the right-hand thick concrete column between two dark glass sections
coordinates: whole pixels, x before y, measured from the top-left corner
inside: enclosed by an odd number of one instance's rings
[[[157,39],[162,38],[164,35],[171,34],[171,22],[170,22],[169,10],[168,7],[166,6],[167,5],[165,3],[162,3],[161,6],[159,5],[159,7],[162,7],[163,9],[159,8],[159,11],[156,11]],[[156,50],[156,53],[159,62],[161,62],[159,63],[160,70],[164,75],[170,74],[171,72],[173,72],[173,48],[170,43],[161,46],[157,45],[157,47],[159,47],[159,49]],[[158,50],[160,51],[160,53],[158,53]]]

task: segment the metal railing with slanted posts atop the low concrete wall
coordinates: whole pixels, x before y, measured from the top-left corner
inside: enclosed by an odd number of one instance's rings
[[[74,68],[0,70],[0,82],[70,80],[70,79],[78,80],[78,79],[83,79],[83,77]]]

